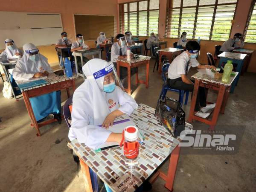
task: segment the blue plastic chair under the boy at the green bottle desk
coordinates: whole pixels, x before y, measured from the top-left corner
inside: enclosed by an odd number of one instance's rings
[[[169,91],[173,91],[173,92],[177,92],[177,93],[179,93],[179,102],[180,102],[180,104],[182,106],[183,98],[184,98],[184,95],[186,93],[185,105],[187,105],[188,98],[189,98],[189,91],[184,91],[184,90],[180,90],[180,89],[170,88],[167,85],[166,73],[168,72],[169,66],[170,66],[170,64],[166,63],[166,64],[163,65],[163,68],[162,68],[163,88],[161,90],[160,96],[163,96],[163,99],[164,99],[164,97],[166,96],[166,93],[167,93],[168,90]]]

